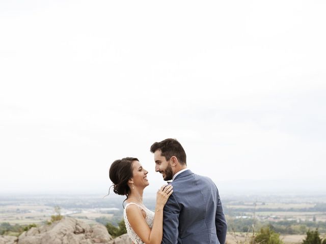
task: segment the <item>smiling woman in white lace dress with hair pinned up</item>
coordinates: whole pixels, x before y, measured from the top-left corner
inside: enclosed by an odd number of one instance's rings
[[[147,171],[136,158],[116,160],[110,167],[114,192],[125,195],[124,221],[129,237],[135,244],[161,243],[163,208],[172,194],[172,186],[162,186],[156,195],[155,212],[143,204],[143,191],[149,185]]]

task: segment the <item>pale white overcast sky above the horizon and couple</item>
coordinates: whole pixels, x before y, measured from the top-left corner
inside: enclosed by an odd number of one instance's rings
[[[325,12],[325,1],[2,0],[0,192],[105,193],[126,156],[156,189],[149,147],[169,137],[225,189],[326,182]]]

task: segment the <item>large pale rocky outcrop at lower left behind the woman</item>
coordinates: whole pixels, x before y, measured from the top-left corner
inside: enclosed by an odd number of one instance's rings
[[[18,238],[0,236],[0,244],[130,244],[127,234],[115,239],[108,234],[105,226],[88,224],[64,218],[51,225],[33,227],[23,232]]]

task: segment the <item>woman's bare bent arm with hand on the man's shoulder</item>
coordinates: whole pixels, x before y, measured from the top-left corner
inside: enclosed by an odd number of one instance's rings
[[[126,209],[131,228],[146,244],[161,243],[163,235],[163,208],[172,192],[172,185],[162,186],[157,192],[152,229],[147,225],[142,211],[137,205],[129,205]]]

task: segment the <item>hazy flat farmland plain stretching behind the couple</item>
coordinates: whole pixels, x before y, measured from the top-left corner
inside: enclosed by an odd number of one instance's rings
[[[223,208],[228,221],[227,243],[236,243],[251,237],[263,226],[270,226],[281,234],[285,243],[301,243],[308,229],[326,233],[326,196],[224,196]],[[96,195],[85,196],[2,196],[0,197],[0,224],[42,225],[60,214],[88,224],[117,224],[123,218],[124,198]],[[155,198],[144,198],[149,209],[155,207]],[[246,237],[247,236],[247,237]]]

